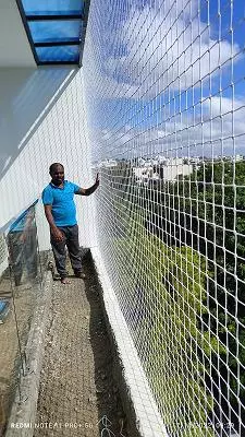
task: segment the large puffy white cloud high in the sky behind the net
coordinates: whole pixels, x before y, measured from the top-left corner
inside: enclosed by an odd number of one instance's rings
[[[177,3],[177,5],[176,5]],[[164,1],[161,9],[132,7],[121,28],[108,37],[109,47],[124,47],[105,59],[107,86],[118,97],[152,97],[164,90],[199,86],[238,59],[240,47],[210,37],[197,16],[197,0]],[[176,9],[177,8],[177,9]],[[182,11],[182,13],[181,13]]]

